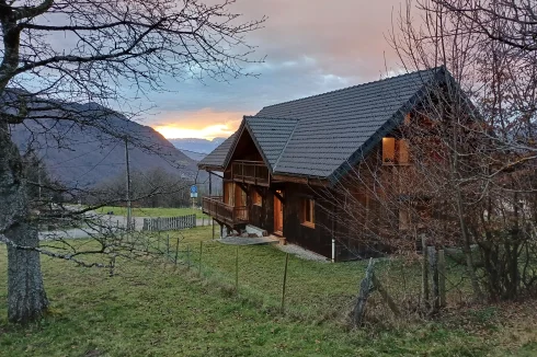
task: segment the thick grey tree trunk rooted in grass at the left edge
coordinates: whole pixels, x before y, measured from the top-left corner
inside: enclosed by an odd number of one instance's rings
[[[48,307],[41,273],[37,230],[30,217],[26,181],[19,149],[0,118],[0,233],[8,242],[8,318],[27,323]],[[25,249],[21,249],[21,247]]]

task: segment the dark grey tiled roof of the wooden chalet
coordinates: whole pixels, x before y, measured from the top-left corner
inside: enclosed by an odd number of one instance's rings
[[[445,76],[441,67],[266,106],[244,117],[241,128],[272,173],[336,181]]]

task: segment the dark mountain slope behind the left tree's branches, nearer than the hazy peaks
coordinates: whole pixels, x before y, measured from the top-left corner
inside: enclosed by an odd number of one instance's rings
[[[161,168],[184,178],[196,177],[196,162],[152,128],[95,103],[55,105],[11,128],[13,141],[22,151],[31,147],[53,178],[71,187],[90,187],[124,173],[124,137],[130,170]],[[67,118],[55,119],[61,117]]]

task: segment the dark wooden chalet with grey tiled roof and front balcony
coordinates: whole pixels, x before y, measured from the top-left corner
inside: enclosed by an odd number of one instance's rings
[[[356,246],[361,237],[338,237],[345,228],[331,212],[339,207],[319,192],[378,152],[390,170],[411,165],[404,142],[392,134],[446,78],[453,80],[444,68],[418,71],[244,116],[239,129],[198,163],[224,172],[224,195],[203,197],[203,211],[224,234],[250,224],[332,261],[374,255]],[[378,207],[368,209],[381,215]]]

